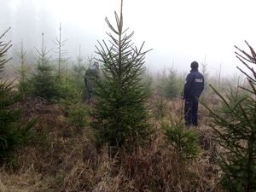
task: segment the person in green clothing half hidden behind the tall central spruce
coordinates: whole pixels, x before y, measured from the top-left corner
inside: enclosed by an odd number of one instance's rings
[[[93,92],[96,87],[96,80],[100,78],[99,63],[95,61],[84,73],[84,84],[86,90],[86,102],[92,102]]]

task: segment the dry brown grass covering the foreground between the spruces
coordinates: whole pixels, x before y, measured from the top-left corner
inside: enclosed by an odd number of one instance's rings
[[[197,128],[201,154],[188,164],[177,162],[160,130],[148,146],[133,154],[120,150],[110,158],[108,146],[97,151],[90,128],[77,131],[59,105],[40,99],[20,105],[26,108],[24,118],[40,117],[37,131],[46,140],[17,151],[15,166],[2,167],[0,192],[221,191],[212,131],[206,125]],[[180,114],[178,101],[167,107],[167,114]],[[160,123],[152,122],[155,127]]]

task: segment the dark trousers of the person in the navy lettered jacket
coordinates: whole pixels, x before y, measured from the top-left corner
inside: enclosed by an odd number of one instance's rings
[[[187,126],[197,126],[197,113],[198,113],[198,99],[197,98],[188,98],[185,99],[185,125]]]

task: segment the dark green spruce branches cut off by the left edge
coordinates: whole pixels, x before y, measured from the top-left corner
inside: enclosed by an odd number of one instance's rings
[[[2,40],[6,32],[0,36],[0,73],[4,64],[10,60],[6,59],[6,55],[12,46],[11,42],[4,43]],[[20,101],[20,96],[15,94],[13,87],[13,81],[0,78],[0,163],[6,160],[16,147],[28,142],[35,123],[35,121],[26,124],[21,122],[21,111],[13,107]]]

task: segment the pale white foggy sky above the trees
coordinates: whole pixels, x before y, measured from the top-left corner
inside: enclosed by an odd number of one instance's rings
[[[40,42],[40,31],[46,35],[49,33],[48,38],[51,40],[57,34],[57,27],[61,22],[63,36],[68,38],[67,48],[72,49],[71,55],[78,53],[79,44],[83,55],[94,54],[96,41],[108,39],[105,32],[109,32],[109,29],[104,18],[107,16],[114,21],[113,11],[119,13],[120,5],[120,0],[0,2],[2,9],[2,5],[6,9],[5,12],[0,12],[0,16],[3,18],[5,13],[7,18],[0,21],[0,30],[3,32],[4,27],[13,24],[14,44],[18,44],[19,39],[23,38],[25,44],[27,41],[27,44],[34,43],[36,46]],[[211,73],[218,73],[220,66],[224,73],[234,73],[237,72],[236,66],[240,65],[234,54],[234,45],[247,49],[244,44],[244,40],[247,40],[256,47],[254,2],[124,0],[124,24],[131,32],[135,31],[135,44],[140,45],[145,41],[145,49],[153,49],[146,55],[147,65],[153,71],[173,65],[179,72],[188,72],[191,61],[206,61]],[[29,23],[28,21],[32,22],[31,18],[38,20],[38,23]],[[25,28],[20,29],[20,26]],[[37,35],[38,42],[29,42],[30,34]]]

